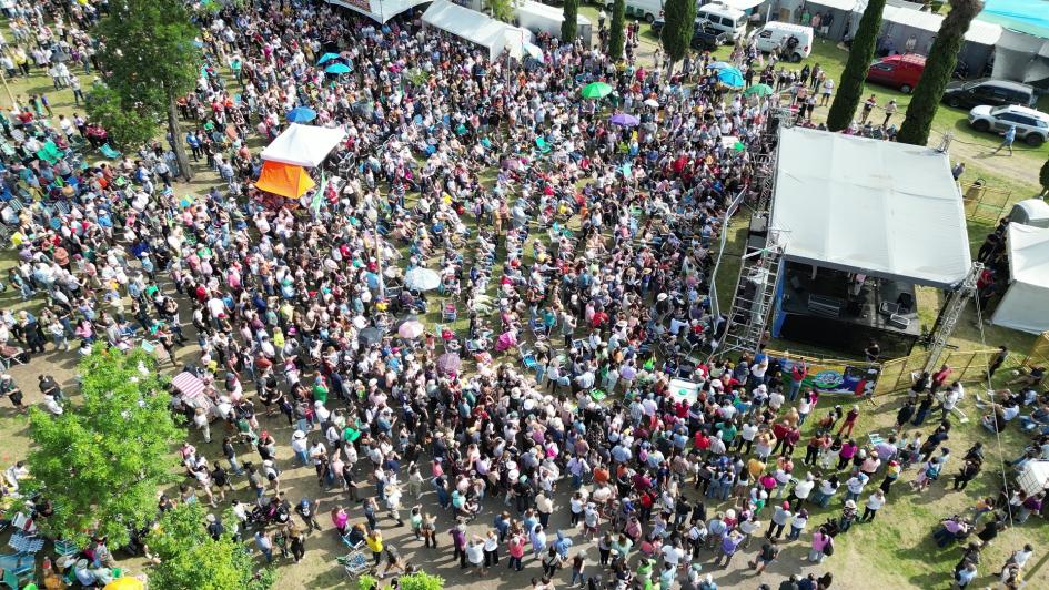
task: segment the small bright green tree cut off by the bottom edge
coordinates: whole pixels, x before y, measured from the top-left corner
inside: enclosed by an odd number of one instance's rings
[[[232,535],[226,532],[215,540],[208,533],[199,502],[181,503],[165,512],[147,543],[160,558],[150,572],[154,588],[266,590],[273,586],[273,571],[256,572],[251,553]]]

